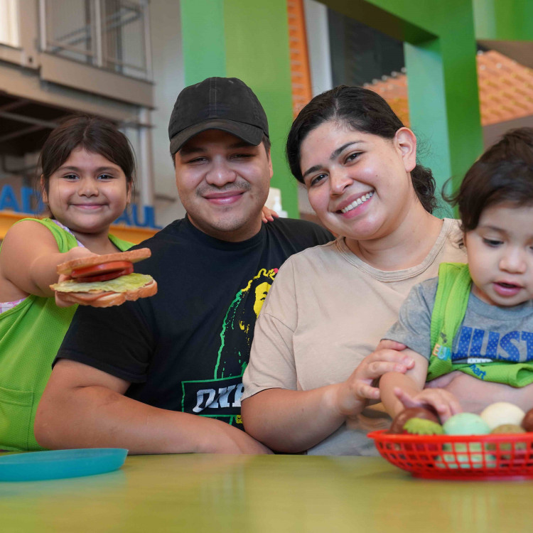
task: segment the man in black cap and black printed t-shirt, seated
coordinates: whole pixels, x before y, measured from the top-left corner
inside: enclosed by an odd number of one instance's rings
[[[36,417],[47,448],[267,451],[239,431],[255,319],[285,259],[332,236],[300,220],[262,223],[268,122],[241,80],[186,87],[168,132],[187,217],[142,243],[152,257],[136,271],[158,294],[77,310]]]

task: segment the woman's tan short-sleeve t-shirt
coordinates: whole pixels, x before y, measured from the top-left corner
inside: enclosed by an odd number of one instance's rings
[[[437,276],[441,262],[465,262],[460,236],[458,221],[444,219],[424,261],[397,271],[366,264],[343,237],[287,259],[255,325],[242,399],[264,389],[309,390],[347,379],[397,320],[412,286]],[[366,434],[389,423],[369,407],[308,453],[375,455]]]

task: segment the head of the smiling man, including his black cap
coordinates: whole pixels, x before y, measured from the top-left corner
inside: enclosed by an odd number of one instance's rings
[[[190,222],[230,242],[256,235],[272,166],[269,125],[252,90],[237,78],[220,77],[185,87],[168,136]],[[225,166],[217,157],[227,159]]]

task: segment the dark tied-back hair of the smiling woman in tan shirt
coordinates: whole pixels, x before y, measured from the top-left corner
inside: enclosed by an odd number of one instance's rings
[[[301,144],[308,134],[324,122],[336,121],[350,129],[393,139],[404,127],[389,104],[376,92],[362,87],[340,85],[314,97],[299,112],[287,137],[286,156],[293,176],[303,183]],[[431,170],[417,164],[411,171],[414,190],[426,211],[436,208],[435,180]]]

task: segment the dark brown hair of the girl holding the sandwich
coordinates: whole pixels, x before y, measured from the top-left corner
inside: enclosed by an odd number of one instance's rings
[[[41,168],[46,193],[50,176],[67,161],[76,148],[99,154],[122,168],[126,183],[134,187],[135,157],[127,137],[107,119],[80,115],[66,117],[50,133],[41,149],[38,168]]]

